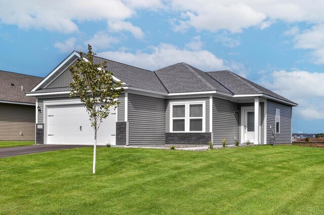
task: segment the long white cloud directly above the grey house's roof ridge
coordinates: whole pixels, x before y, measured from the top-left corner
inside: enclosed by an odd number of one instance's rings
[[[100,52],[98,56],[149,70],[160,69],[180,62],[186,62],[206,71],[229,69],[226,62],[207,50],[181,49],[166,43],[149,48],[152,50],[150,53],[140,50],[135,53],[119,50]]]

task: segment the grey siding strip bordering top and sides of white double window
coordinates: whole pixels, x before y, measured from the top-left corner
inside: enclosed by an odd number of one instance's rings
[[[205,101],[206,102],[206,132],[209,131],[209,97],[203,98],[178,98],[166,100],[166,133],[170,132],[170,102],[186,102],[186,101]]]

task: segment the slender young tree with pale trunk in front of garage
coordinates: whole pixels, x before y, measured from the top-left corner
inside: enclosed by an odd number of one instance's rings
[[[91,45],[88,44],[87,59],[83,57],[81,51],[79,55],[81,60],[69,66],[72,75],[70,97],[78,96],[80,101],[84,103],[95,132],[93,149],[93,174],[95,174],[97,131],[102,120],[108,117],[110,108],[114,106],[114,109],[116,109],[119,104],[117,98],[124,89],[121,87],[122,83],[113,81],[113,74],[105,70],[107,62],[94,63],[93,56],[96,53],[92,52]]]

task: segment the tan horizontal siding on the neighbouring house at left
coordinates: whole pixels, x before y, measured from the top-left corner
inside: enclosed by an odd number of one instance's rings
[[[1,103],[0,140],[35,140],[35,106]]]

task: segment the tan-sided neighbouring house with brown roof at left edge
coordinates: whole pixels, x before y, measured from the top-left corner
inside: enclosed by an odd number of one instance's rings
[[[35,140],[35,98],[27,97],[43,78],[0,71],[0,140]]]

